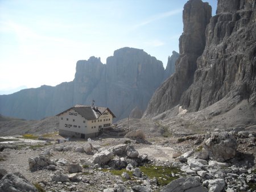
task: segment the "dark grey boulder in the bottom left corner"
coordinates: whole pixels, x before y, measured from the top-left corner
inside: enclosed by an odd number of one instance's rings
[[[0,180],[0,191],[4,192],[36,192],[38,191],[34,185],[26,180],[21,173],[8,173]]]

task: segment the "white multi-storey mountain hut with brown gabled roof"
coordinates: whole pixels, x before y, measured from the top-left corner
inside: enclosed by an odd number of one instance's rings
[[[59,135],[82,139],[96,137],[112,126],[115,115],[108,107],[76,105],[58,114]]]

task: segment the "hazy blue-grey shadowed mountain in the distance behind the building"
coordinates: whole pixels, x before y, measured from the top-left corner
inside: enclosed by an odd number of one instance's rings
[[[43,85],[10,95],[0,95],[0,113],[23,119],[42,119],[76,104],[109,107],[117,119],[126,118],[135,107],[145,110],[162,83],[161,61],[142,49],[121,48],[108,57],[77,61],[75,79],[55,87]],[[170,76],[170,74],[169,74]]]

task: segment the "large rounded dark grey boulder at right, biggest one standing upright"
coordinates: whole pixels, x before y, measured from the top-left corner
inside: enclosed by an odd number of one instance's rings
[[[226,131],[207,133],[203,143],[211,160],[224,162],[236,156],[237,141],[234,136]]]

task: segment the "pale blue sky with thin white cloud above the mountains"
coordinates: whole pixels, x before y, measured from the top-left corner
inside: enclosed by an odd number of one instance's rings
[[[76,62],[143,49],[166,67],[187,0],[0,0],[0,94],[72,81]],[[216,12],[217,0],[209,2]]]

